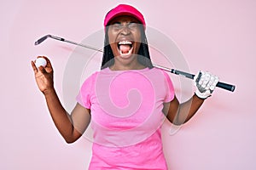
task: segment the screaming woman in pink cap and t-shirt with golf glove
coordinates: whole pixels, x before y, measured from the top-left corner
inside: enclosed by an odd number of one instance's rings
[[[88,77],[71,115],[61,105],[53,84],[53,69],[32,62],[55,126],[67,143],[81,137],[91,123],[94,144],[90,169],[167,169],[161,142],[166,118],[177,125],[188,122],[212,94],[218,77],[201,72],[197,90],[179,104],[170,77],[152,66],[143,14],[121,4],[104,20],[102,70]]]

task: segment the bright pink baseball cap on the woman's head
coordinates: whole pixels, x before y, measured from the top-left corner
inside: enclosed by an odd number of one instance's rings
[[[146,28],[146,23],[143,17],[143,14],[141,14],[137,8],[132,7],[131,5],[126,5],[126,4],[119,4],[117,7],[111,9],[108,14],[105,17],[104,20],[104,27],[108,26],[108,22],[112,20],[113,18],[120,16],[120,15],[129,15],[133,16],[137,20],[139,20],[144,28]]]

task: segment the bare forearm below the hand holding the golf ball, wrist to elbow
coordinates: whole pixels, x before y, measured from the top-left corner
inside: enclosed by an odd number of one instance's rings
[[[61,105],[55,89],[52,88],[44,93],[46,103],[55,126],[67,143],[73,142],[73,122],[67,111]]]

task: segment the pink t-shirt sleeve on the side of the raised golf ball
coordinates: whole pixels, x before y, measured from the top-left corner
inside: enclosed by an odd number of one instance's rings
[[[79,94],[76,97],[77,102],[87,109],[90,109],[91,106],[91,94],[95,79],[94,77],[96,77],[96,73],[88,77],[83,82],[81,88],[79,89]]]

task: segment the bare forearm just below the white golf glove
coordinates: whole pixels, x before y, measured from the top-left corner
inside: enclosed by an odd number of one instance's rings
[[[199,110],[203,102],[204,99],[200,99],[194,94],[188,101],[180,104],[174,123],[181,125],[185,122],[188,122],[191,117],[195,116],[196,111]]]

